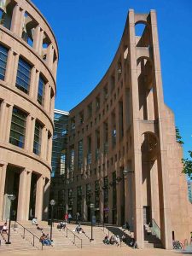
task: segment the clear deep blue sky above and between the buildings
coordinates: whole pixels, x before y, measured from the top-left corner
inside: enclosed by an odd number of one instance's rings
[[[59,44],[55,108],[70,110],[102,79],[118,48],[128,9],[156,9],[166,104],[192,150],[191,0],[33,0]]]

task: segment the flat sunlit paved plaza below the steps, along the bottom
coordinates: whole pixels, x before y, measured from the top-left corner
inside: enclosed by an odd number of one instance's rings
[[[71,254],[71,255],[70,255]],[[163,249],[132,249],[126,247],[108,247],[106,248],[85,248],[77,250],[55,250],[54,248],[46,248],[44,251],[15,251],[15,252],[4,252],[1,256],[16,256],[16,255],[32,255],[32,256],[97,256],[97,255],[110,255],[110,256],[178,256],[178,255],[192,255],[192,252],[181,253],[178,251],[169,251]]]

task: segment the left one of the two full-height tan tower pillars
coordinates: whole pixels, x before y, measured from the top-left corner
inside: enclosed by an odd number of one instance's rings
[[[135,15],[131,9],[129,11],[129,61],[130,61],[130,81],[131,81],[131,110],[132,110],[132,169],[134,170],[134,235],[139,248],[144,247],[143,237],[143,178],[142,178],[142,154],[141,154],[141,134],[139,131],[139,96],[137,81],[137,55],[135,36]]]

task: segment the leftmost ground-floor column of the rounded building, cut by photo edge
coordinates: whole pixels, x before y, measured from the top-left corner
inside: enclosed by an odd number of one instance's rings
[[[7,164],[0,164],[0,220],[3,220],[3,201],[7,166]]]

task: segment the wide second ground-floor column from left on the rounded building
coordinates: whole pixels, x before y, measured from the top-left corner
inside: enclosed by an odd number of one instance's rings
[[[20,172],[17,220],[28,220],[32,172]]]

